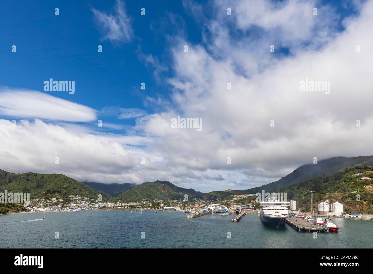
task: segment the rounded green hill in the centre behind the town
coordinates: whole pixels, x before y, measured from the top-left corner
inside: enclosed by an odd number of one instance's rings
[[[204,193],[195,191],[194,189],[179,188],[170,182],[154,181],[146,182],[120,193],[115,197],[115,200],[123,202],[135,202],[140,200],[169,200],[169,199],[184,199],[184,195],[188,195],[188,199],[201,197]]]

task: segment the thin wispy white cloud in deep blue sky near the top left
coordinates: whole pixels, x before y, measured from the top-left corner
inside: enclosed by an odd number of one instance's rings
[[[123,1],[116,0],[115,15],[92,8],[98,29],[103,33],[103,40],[129,42],[134,36],[131,20],[126,13]]]

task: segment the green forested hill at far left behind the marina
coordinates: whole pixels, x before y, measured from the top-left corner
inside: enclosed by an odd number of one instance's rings
[[[0,192],[29,192],[30,198],[53,195],[81,195],[97,199],[101,194],[103,200],[111,197],[102,191],[95,190],[77,180],[62,174],[11,173],[0,169]]]

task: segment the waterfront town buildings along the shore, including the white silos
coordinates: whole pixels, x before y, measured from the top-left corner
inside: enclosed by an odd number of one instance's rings
[[[249,195],[235,195],[229,201],[216,202],[206,201],[201,199],[193,199],[191,201],[182,200],[156,200],[153,201],[137,201],[137,202],[104,202],[98,199],[90,199],[80,195],[69,195],[62,197],[56,195],[54,198],[38,198],[31,199],[29,204],[25,204],[26,211],[32,212],[66,212],[66,211],[81,211],[81,210],[110,210],[110,209],[131,209],[131,210],[162,210],[162,211],[181,211],[197,215],[203,213],[221,213],[233,214],[236,212],[245,212],[245,214],[259,214],[260,205],[255,200],[246,200],[247,203],[242,202],[245,198],[253,197],[254,194]],[[249,202],[250,201],[250,202]],[[316,208],[315,208],[316,209]],[[308,215],[317,216],[333,216],[341,218],[356,218],[364,220],[373,220],[373,215],[361,214],[358,212],[346,213],[344,207],[339,202],[330,204],[328,200],[322,201],[317,207],[317,211],[301,212],[297,210],[297,202],[290,201],[289,215],[304,219]]]

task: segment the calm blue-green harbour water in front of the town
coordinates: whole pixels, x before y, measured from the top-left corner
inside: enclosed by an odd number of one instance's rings
[[[211,214],[131,210],[41,212],[0,215],[2,248],[372,248],[373,221],[333,218],[338,233],[295,232],[285,224],[264,226],[259,215],[238,223]],[[44,216],[46,220],[40,220]],[[59,239],[55,239],[59,232]],[[145,232],[145,239],[141,233]],[[232,238],[227,239],[231,232]]]

